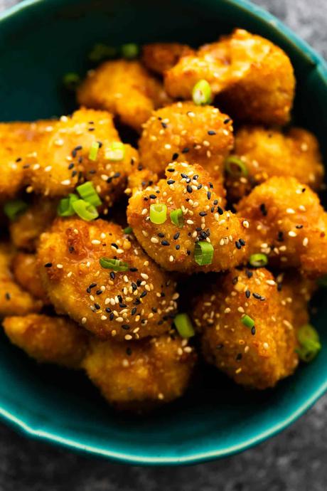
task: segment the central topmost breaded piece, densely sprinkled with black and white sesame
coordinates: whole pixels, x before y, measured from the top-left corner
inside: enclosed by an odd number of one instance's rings
[[[223,211],[222,198],[215,193],[210,176],[199,165],[173,162],[166,169],[166,179],[129,199],[127,220],[144,250],[169,271],[194,273],[220,271],[242,263],[247,257],[243,243],[245,226],[231,211]],[[159,192],[158,192],[159,191]],[[150,221],[151,204],[166,204],[165,223]],[[171,222],[170,213],[183,211],[183,228]],[[195,243],[210,241],[213,262],[195,263]]]

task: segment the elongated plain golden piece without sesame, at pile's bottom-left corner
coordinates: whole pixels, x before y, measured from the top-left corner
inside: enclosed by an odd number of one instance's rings
[[[36,361],[80,368],[87,349],[87,333],[67,317],[30,314],[6,317],[3,325],[11,342]]]

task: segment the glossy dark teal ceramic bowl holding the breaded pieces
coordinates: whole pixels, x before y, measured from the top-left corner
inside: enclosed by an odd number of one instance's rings
[[[0,18],[0,120],[68,112],[60,80],[85,70],[98,41],[214,40],[233,27],[277,43],[296,70],[294,120],[316,132],[326,153],[327,70],[277,19],[243,0],[36,0]],[[118,416],[82,374],[38,366],[1,337],[0,414],[33,438],[143,465],[181,465],[230,455],[274,435],[327,389],[327,302],[318,298],[323,350],[276,389],[243,391],[214,369],[176,403],[146,418]]]

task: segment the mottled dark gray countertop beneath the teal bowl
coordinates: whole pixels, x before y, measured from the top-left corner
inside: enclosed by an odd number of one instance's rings
[[[0,9],[14,1],[0,0]],[[327,0],[255,0],[327,56]],[[291,428],[241,455],[137,468],[51,447],[0,425],[0,491],[326,491],[327,396]]]

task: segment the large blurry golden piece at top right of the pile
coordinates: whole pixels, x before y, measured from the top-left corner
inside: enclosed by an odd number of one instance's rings
[[[210,83],[218,104],[236,120],[284,125],[294,98],[294,73],[281,48],[261,36],[235,29],[230,36],[183,56],[166,72],[172,97],[191,99],[198,80]]]

